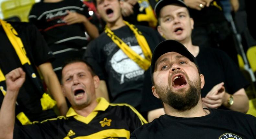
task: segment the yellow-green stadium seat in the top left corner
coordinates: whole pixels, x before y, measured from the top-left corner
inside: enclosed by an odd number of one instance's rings
[[[1,3],[4,18],[17,16],[23,22],[28,22],[29,11],[35,0],[7,0]]]

